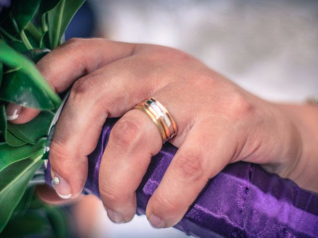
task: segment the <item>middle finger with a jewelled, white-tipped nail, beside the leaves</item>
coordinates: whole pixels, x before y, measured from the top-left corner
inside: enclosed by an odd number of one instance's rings
[[[62,198],[81,192],[87,155],[96,147],[105,119],[122,116],[150,94],[151,75],[136,61],[127,58],[105,65],[72,87],[50,149],[52,178],[57,178],[55,188]]]

